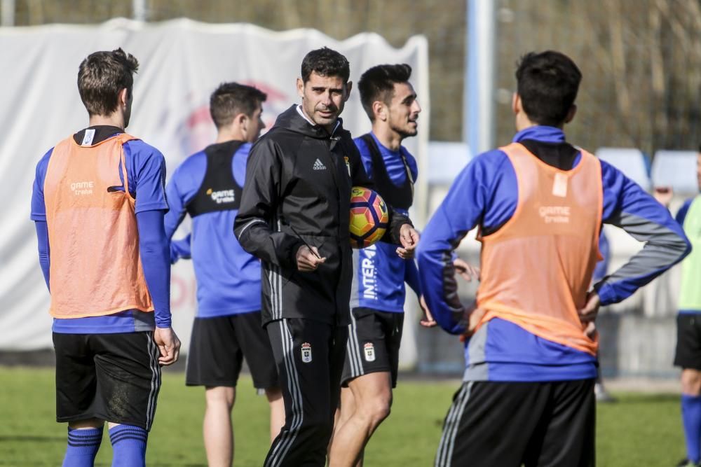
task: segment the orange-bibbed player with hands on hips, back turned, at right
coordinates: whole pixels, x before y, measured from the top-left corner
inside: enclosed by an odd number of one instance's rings
[[[666,209],[565,140],[581,80],[562,53],[525,55],[511,144],[463,169],[418,246],[439,325],[468,335],[465,374],[436,466],[594,466],[599,305],[620,302],[689,251]],[[645,242],[590,289],[601,223]],[[458,300],[451,251],[479,227],[476,307]]]

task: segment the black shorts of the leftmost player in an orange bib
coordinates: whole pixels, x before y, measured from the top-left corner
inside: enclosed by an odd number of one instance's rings
[[[161,389],[153,332],[53,333],[56,421],[101,419],[151,429]]]

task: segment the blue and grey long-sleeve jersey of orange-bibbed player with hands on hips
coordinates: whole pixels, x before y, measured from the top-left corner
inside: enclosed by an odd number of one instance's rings
[[[564,132],[554,127],[530,127],[514,141],[564,145]],[[580,154],[573,160],[579,162]],[[640,186],[601,161],[602,221],[617,225],[644,248],[594,288],[601,305],[620,302],[637,288],[665,272],[690,249],[674,219]],[[500,150],[478,155],[458,174],[449,193],[423,232],[418,245],[421,287],[439,325],[450,333],[465,331],[454,269],[449,260],[465,234],[479,227],[496,232],[514,214],[517,179],[508,156]],[[585,352],[547,341],[503,319],[492,319],[465,344],[465,379],[552,381],[594,377],[597,362]]]

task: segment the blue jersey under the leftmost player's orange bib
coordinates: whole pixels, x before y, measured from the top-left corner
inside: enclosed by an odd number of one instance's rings
[[[118,133],[114,127],[94,127],[97,135],[95,143]],[[163,215],[168,211],[165,201],[165,159],[156,148],[138,139],[123,144],[128,186],[135,197],[135,213],[139,230],[139,255],[142,260],[154,312],[127,310],[107,316],[86,318],[54,319],[53,332],[68,334],[109,334],[131,333],[154,330],[154,326],[168,328],[170,316],[170,264],[168,263],[168,239],[163,229]],[[43,183],[53,148],[43,155],[36,165],[36,176],[32,188],[31,218],[36,226],[39,242],[39,264],[48,286],[50,266],[50,244],[46,224],[46,205],[43,197]],[[122,172],[119,171],[120,179]],[[122,180],[123,182],[123,180]]]

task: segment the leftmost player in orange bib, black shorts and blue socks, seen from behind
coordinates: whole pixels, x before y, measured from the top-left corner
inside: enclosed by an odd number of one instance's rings
[[[36,166],[32,220],[51,293],[56,419],[68,422],[64,466],[93,465],[105,421],[112,465],[145,465],[159,365],[178,358],[165,160],[124,132],[137,67],[121,49],[83,60],[78,88],[90,126]]]

